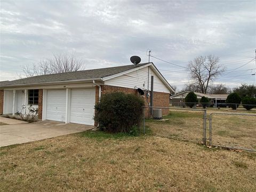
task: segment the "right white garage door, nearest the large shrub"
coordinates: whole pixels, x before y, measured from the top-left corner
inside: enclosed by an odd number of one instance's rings
[[[95,88],[72,89],[70,123],[94,125]]]

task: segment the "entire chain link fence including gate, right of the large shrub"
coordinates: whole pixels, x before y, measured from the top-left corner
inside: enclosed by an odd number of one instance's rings
[[[151,118],[146,111],[153,109]],[[156,110],[166,111],[162,118]],[[256,111],[255,111],[256,112]],[[256,151],[256,113],[233,113],[218,109],[145,107],[143,130],[149,126],[157,137],[202,143],[207,146]]]

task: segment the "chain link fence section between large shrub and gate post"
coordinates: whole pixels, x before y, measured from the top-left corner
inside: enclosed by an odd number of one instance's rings
[[[153,108],[167,110],[163,118],[147,118],[147,111]],[[157,137],[171,138],[180,141],[191,141],[195,143],[205,143],[206,136],[206,109],[187,109],[187,108],[167,108],[167,107],[145,107],[145,127],[149,126],[152,134]],[[153,115],[154,117],[154,115]],[[204,118],[205,117],[205,118]],[[206,143],[205,143],[206,144]]]

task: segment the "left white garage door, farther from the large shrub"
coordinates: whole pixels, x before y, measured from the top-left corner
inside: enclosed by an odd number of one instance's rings
[[[47,90],[46,119],[65,122],[66,90]]]

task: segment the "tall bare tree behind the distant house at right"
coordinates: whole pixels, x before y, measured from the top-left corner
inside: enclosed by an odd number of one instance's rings
[[[198,87],[201,93],[206,93],[209,84],[221,75],[225,68],[219,63],[219,58],[214,55],[198,56],[188,63],[191,86]]]

